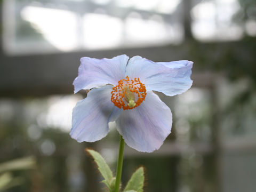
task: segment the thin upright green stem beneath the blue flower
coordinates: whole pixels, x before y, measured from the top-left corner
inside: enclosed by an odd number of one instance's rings
[[[123,156],[124,156],[124,139],[122,135],[120,135],[119,155],[118,155],[118,162],[116,167],[116,185],[115,185],[114,192],[119,192],[122,167],[123,167]]]

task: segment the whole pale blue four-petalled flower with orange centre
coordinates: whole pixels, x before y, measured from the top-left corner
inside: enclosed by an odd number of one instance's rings
[[[109,132],[108,123],[116,121],[128,146],[145,152],[159,149],[171,133],[172,113],[153,91],[168,96],[187,91],[192,66],[187,60],[153,62],[127,55],[81,58],[74,92],[91,91],[73,109],[71,137],[100,140]]]

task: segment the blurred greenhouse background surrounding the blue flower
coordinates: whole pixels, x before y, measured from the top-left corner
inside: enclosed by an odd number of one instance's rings
[[[125,148],[123,183],[145,191],[256,191],[255,0],[1,0],[0,191],[103,191],[84,153],[116,169],[118,133],[69,136],[81,57],[194,61],[192,88],[159,97],[172,133],[154,153]]]

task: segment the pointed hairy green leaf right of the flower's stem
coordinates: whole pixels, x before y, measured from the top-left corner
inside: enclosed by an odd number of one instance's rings
[[[143,185],[144,185],[144,170],[143,167],[137,169],[133,174],[131,179],[128,181],[124,192],[143,192]]]

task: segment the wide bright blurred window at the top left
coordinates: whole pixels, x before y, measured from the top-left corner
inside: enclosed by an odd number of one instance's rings
[[[9,54],[179,43],[180,0],[4,1]]]

